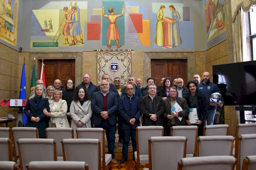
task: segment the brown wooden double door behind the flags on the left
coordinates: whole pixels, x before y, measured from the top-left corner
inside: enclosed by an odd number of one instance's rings
[[[41,74],[42,60],[39,61],[39,74]],[[44,60],[45,87],[52,85],[59,79],[61,86],[65,87],[68,78],[75,81],[75,59]],[[39,76],[40,77],[40,76]],[[65,87],[66,88],[66,87]]]

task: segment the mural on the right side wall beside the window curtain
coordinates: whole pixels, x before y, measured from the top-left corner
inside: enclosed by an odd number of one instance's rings
[[[224,0],[205,0],[207,42],[226,31]]]

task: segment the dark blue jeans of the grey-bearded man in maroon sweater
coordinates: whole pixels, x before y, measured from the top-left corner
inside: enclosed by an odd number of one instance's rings
[[[108,141],[109,154],[111,154],[112,158],[114,158],[115,157],[114,148],[115,148],[115,127],[116,127],[116,125],[111,125],[108,120],[106,120],[106,121],[102,120],[99,125],[94,125],[94,127],[105,129],[106,138]]]

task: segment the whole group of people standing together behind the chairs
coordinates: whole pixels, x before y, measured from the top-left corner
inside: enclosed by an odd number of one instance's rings
[[[191,125],[188,120],[189,108],[196,108],[199,120],[193,125],[199,126],[198,135],[202,135],[209,110],[208,93],[214,93],[217,88],[209,81],[208,72],[203,74],[203,81],[200,83],[200,77],[199,80],[197,75],[194,78],[196,81],[191,80],[184,87],[181,78],[177,78],[172,84],[169,77],[163,77],[162,85],[157,87],[154,78],[150,77],[147,79],[147,86],[143,88],[142,80],[137,78],[136,86],[134,77],[130,75],[127,86],[122,88],[119,77],[114,78],[112,85],[109,83],[110,76],[103,74],[100,85],[95,86],[90,81],[90,75],[85,74],[83,82],[76,88],[72,79],[67,80],[66,89],[61,87],[60,80],[55,80],[54,86],[47,87],[46,96],[43,92],[43,81],[38,80],[24,109],[28,117],[26,126],[37,127],[40,138],[45,138],[46,127],[70,127],[68,118],[71,118],[74,132],[76,128],[103,128],[106,130],[111,161],[116,164],[114,146],[118,124],[119,139],[123,142],[123,159],[120,163],[124,163],[128,157],[130,139],[133,153],[137,151],[136,127],[140,126],[140,120],[142,126],[165,127],[164,135],[170,136],[172,126]],[[171,111],[175,103],[183,110]]]

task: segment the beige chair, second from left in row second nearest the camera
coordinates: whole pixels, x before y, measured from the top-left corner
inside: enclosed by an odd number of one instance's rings
[[[54,139],[19,139],[17,143],[21,170],[31,161],[57,161]]]

